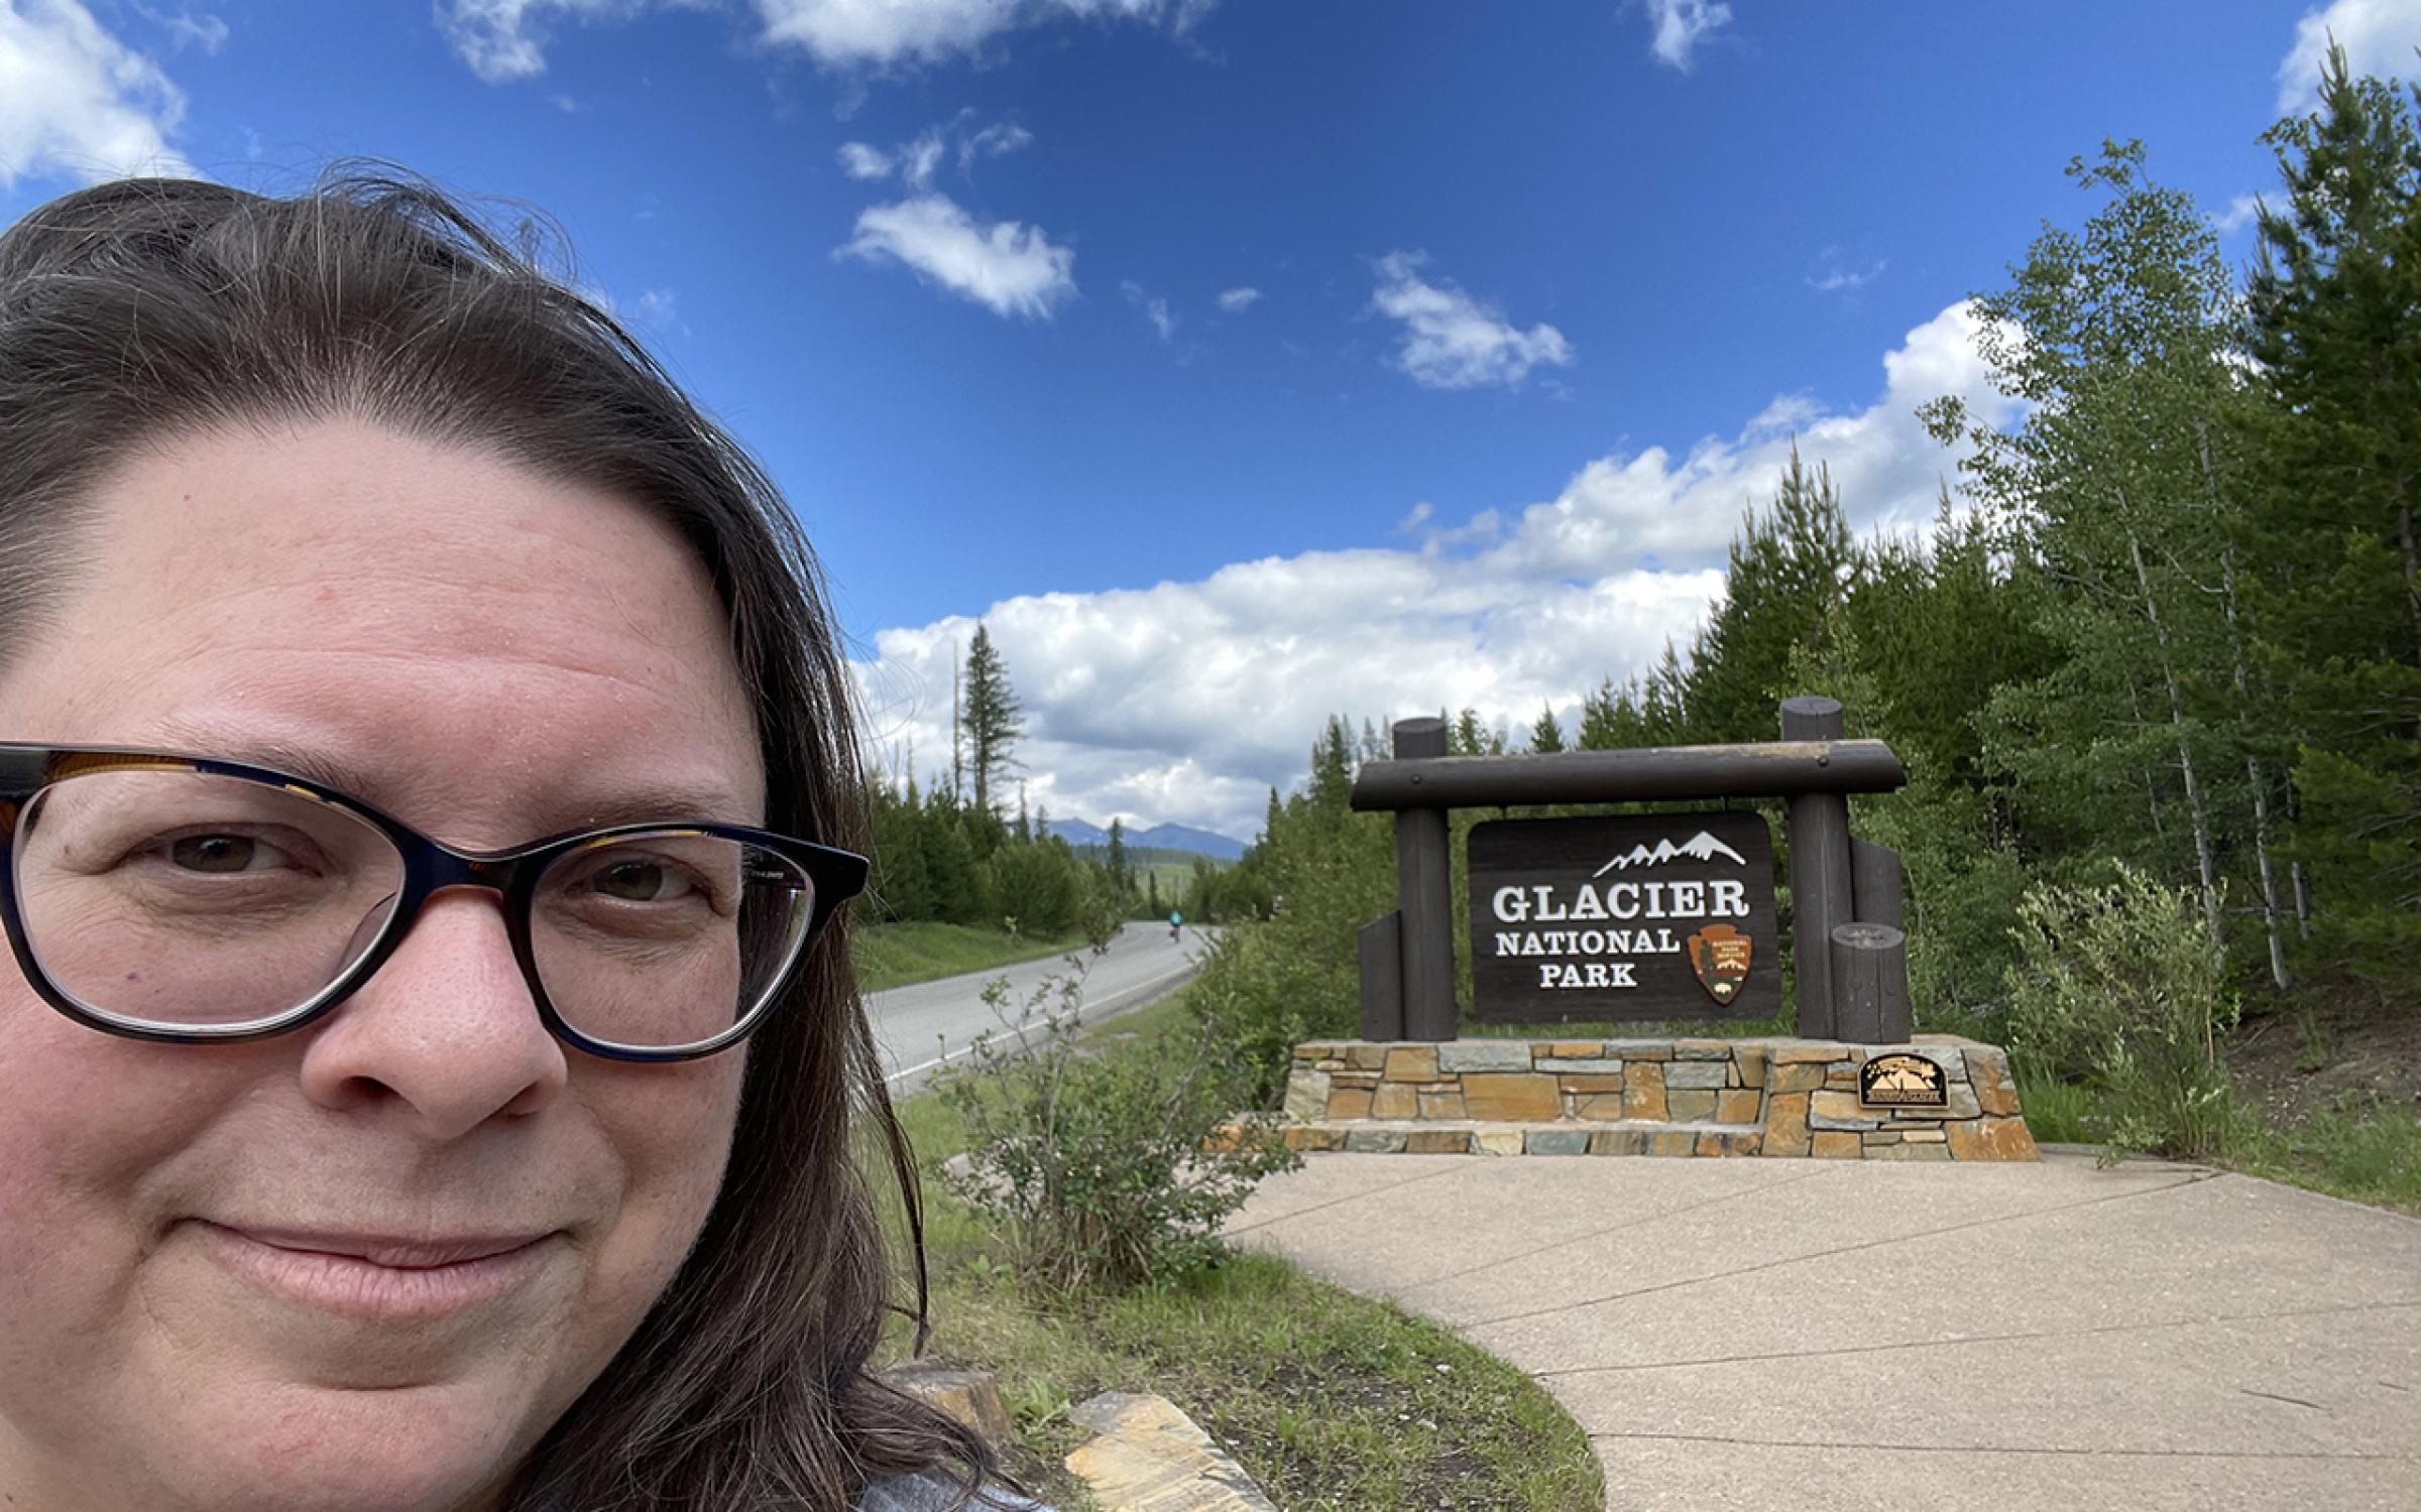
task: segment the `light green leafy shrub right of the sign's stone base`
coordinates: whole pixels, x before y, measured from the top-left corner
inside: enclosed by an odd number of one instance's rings
[[[2012,934],[2012,1050],[2101,1093],[2109,1156],[2220,1154],[2237,1103],[2218,1040],[2237,999],[2193,898],[2121,864],[2106,885],[2029,888]]]

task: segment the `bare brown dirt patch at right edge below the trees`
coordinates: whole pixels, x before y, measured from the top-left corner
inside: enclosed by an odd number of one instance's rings
[[[2273,1011],[2247,1011],[2227,1069],[2273,1127],[2348,1096],[2421,1113],[2421,1002],[2365,982],[2314,982]]]

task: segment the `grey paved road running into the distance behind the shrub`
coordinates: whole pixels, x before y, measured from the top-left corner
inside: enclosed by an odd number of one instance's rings
[[[1165,924],[1128,924],[1109,941],[1106,956],[1087,956],[1085,1023],[1140,1009],[1177,992],[1194,975],[1203,946],[1203,936],[1191,927],[1186,927],[1181,943],[1172,943]],[[983,1006],[985,982],[1007,977],[1010,1004],[1022,1006],[1043,977],[1065,975],[1065,956],[1043,956],[1041,960],[869,994],[867,1011],[874,1016],[874,1040],[884,1050],[891,1096],[918,1091],[935,1067],[966,1055],[978,1033],[1000,1028],[993,1011]]]

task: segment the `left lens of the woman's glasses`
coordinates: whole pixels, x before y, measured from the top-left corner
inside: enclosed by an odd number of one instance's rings
[[[92,772],[27,806],[27,943],[131,1026],[237,1033],[310,1004],[378,939],[404,861],[368,820],[199,772]]]

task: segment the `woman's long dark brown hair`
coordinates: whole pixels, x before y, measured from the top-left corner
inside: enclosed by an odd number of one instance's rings
[[[293,198],[104,184],[0,235],[0,660],[56,607],[80,498],[128,455],[366,419],[661,510],[729,610],[765,823],[864,849],[850,692],[806,539],[629,331],[547,273],[533,225],[516,247],[424,181],[356,172]],[[993,1471],[981,1439],[867,1369],[893,1280],[852,1130],[872,1132],[920,1234],[843,914],[751,1043],[695,1251],[537,1447],[516,1510],[840,1512],[874,1476],[949,1466],[973,1488]]]

